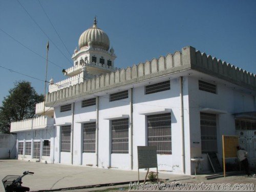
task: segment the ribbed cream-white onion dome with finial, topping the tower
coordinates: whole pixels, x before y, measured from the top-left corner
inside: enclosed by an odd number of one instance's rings
[[[88,42],[91,41],[91,46],[108,51],[110,48],[110,39],[108,35],[97,27],[96,18],[94,19],[94,25],[92,28],[84,31],[78,41],[79,48],[88,46]]]

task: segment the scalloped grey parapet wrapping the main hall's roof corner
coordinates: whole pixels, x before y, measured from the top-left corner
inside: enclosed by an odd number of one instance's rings
[[[129,85],[155,77],[177,73],[184,70],[194,69],[203,73],[214,75],[240,86],[256,91],[255,75],[243,70],[238,70],[226,62],[217,60],[215,57],[201,54],[193,47],[184,47],[182,51],[174,54],[160,56],[145,63],[139,63],[126,69],[118,69],[110,74],[104,74],[92,79],[83,80],[61,90],[48,93],[46,105],[54,104],[95,94],[97,92]],[[65,82],[63,82],[65,83]]]

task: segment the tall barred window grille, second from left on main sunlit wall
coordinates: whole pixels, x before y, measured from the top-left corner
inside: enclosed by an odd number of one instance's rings
[[[96,122],[83,124],[83,152],[95,153]]]

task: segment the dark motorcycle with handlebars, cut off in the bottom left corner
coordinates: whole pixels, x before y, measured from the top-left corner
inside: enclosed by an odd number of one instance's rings
[[[25,171],[23,172],[23,175],[18,176],[18,175],[8,175],[6,176],[2,182],[5,187],[6,192],[25,192],[29,191],[29,187],[22,186],[22,178],[26,175],[34,175],[33,172]]]

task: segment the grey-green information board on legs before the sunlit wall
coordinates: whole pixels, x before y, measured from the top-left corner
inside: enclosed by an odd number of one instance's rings
[[[138,149],[138,168],[157,167],[157,147],[156,146],[137,146]]]

